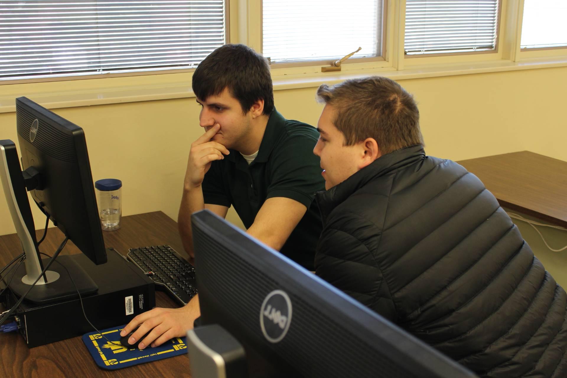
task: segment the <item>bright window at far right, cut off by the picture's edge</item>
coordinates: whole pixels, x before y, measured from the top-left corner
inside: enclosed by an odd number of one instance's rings
[[[565,18],[565,0],[525,0],[521,48],[567,46]]]

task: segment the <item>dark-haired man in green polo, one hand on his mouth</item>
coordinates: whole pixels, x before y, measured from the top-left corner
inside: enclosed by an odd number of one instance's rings
[[[313,270],[321,220],[314,193],[325,189],[312,154],[315,128],[286,120],[274,108],[268,62],[245,45],[216,49],[193,74],[193,91],[205,129],[191,145],[179,232],[193,256],[191,214],[209,209],[226,216],[232,205],[247,233]],[[178,309],[154,308],[136,316],[121,335],[158,346],[185,335],[200,315],[197,296]]]

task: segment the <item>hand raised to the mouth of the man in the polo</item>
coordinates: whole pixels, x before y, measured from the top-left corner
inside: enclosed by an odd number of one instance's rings
[[[205,178],[205,173],[209,171],[213,160],[224,159],[223,154],[228,155],[229,150],[221,143],[212,142],[211,138],[221,128],[215,124],[212,128],[201,135],[196,141],[191,143],[189,151],[189,162],[185,173],[185,188],[196,188],[201,185]]]

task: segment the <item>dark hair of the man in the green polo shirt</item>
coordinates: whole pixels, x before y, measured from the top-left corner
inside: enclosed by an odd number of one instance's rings
[[[210,53],[193,73],[192,87],[201,100],[228,88],[244,114],[260,99],[264,100],[263,114],[270,114],[274,109],[268,60],[246,45],[223,45]]]

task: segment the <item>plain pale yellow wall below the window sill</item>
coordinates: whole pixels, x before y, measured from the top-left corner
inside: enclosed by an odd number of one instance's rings
[[[567,161],[567,67],[400,84],[418,101],[430,155],[460,160],[530,150]],[[315,89],[276,91],[278,111],[315,125],[321,111]],[[55,111],[85,130],[93,179],[122,180],[124,215],[162,210],[177,218],[189,144],[202,133],[194,99]],[[0,128],[0,139],[17,140],[14,113],[0,114]],[[33,212],[36,228],[41,228],[43,215]],[[234,213],[229,219],[239,223]],[[0,199],[0,235],[12,232],[10,213]]]

